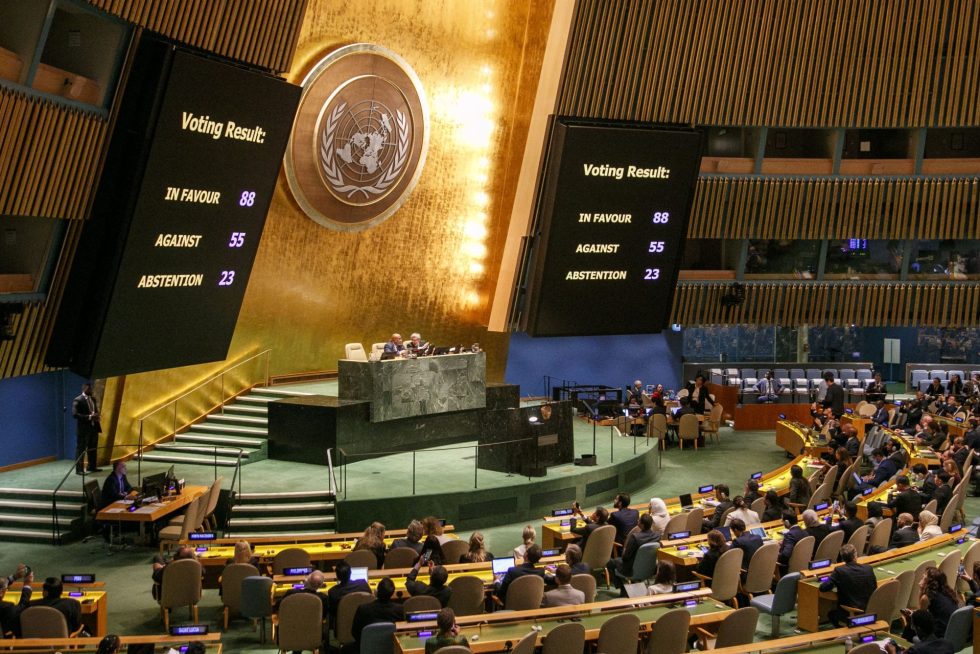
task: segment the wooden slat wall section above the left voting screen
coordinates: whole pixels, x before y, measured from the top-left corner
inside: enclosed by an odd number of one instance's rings
[[[277,73],[289,70],[307,0],[88,0],[169,38]]]

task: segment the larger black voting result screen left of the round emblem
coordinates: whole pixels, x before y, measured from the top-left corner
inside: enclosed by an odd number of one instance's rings
[[[172,47],[158,63],[159,83],[135,88],[142,95],[123,107],[152,107],[155,119],[142,134],[117,130],[110,149],[143,165],[142,176],[130,188],[125,170],[104,176],[96,225],[82,243],[112,262],[79,273],[101,311],[81,311],[77,329],[93,333],[76,337],[70,364],[95,377],[227,356],[299,101],[298,86]],[[140,137],[138,155],[117,142]],[[126,203],[107,200],[113,184]],[[105,243],[94,242],[100,232]]]

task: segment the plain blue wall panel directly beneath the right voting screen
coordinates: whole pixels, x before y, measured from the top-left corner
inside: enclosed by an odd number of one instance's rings
[[[579,384],[625,386],[634,379],[676,389],[681,376],[681,335],[510,337],[505,378],[521,395],[545,394],[544,376]],[[550,394],[550,392],[548,393]]]

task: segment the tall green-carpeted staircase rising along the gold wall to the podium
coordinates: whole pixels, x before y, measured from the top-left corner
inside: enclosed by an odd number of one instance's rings
[[[143,460],[234,467],[241,449],[242,465],[262,461],[269,456],[269,402],[300,395],[309,393],[253,388],[177,434],[173,441],[145,452]]]

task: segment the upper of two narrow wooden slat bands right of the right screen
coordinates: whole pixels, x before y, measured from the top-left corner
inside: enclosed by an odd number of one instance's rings
[[[980,179],[702,177],[687,236],[980,239]]]

